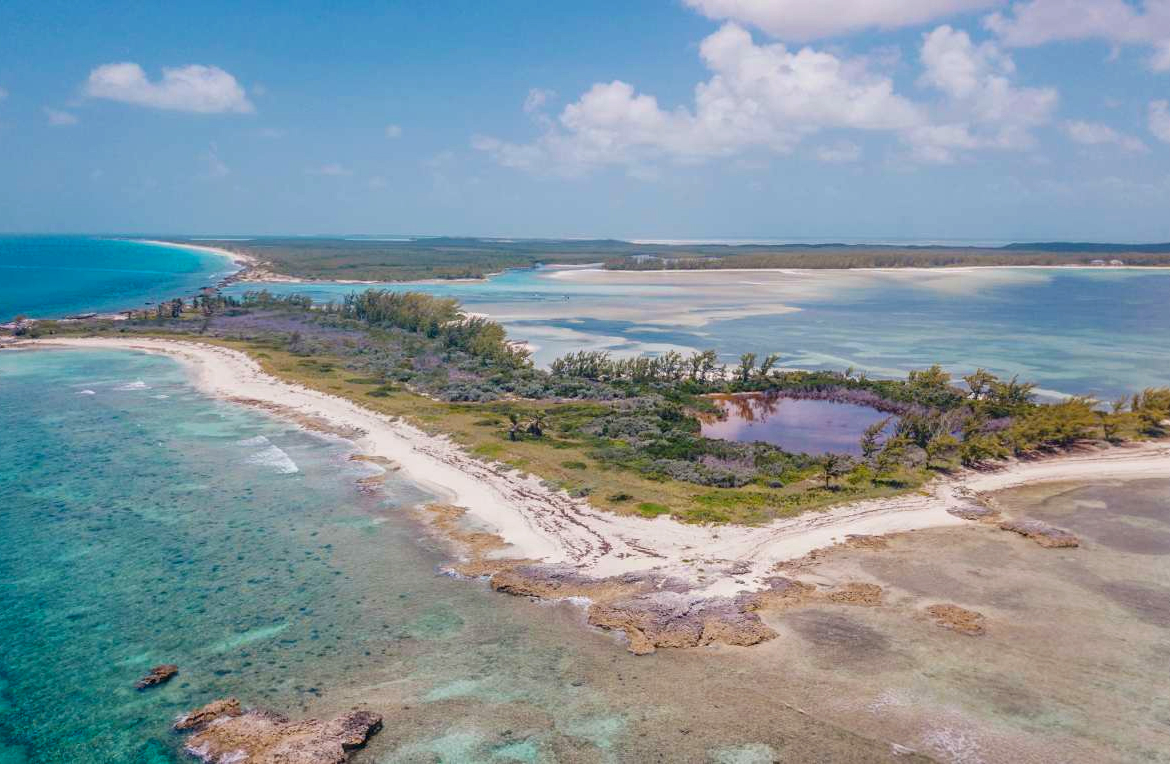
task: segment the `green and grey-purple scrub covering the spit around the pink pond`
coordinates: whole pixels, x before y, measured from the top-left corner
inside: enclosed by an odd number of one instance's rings
[[[340,303],[264,291],[206,291],[128,321],[22,322],[28,335],[197,336],[240,347],[271,373],[445,432],[484,457],[600,507],[690,522],[764,522],[920,486],[932,474],[1088,440],[1163,436],[1170,388],[1102,406],[1035,400],[1032,385],[934,366],[906,379],[785,371],[776,355],[723,364],[715,351],[618,359],[577,352],[548,371],[456,301],[369,290]],[[859,436],[859,456],[792,454],[704,438],[711,393],[834,400],[889,414]]]

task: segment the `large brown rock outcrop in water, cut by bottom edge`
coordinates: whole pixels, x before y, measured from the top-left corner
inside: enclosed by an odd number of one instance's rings
[[[263,709],[241,711],[229,697],[187,714],[176,729],[195,730],[184,750],[208,764],[344,764],[381,729],[381,716],[360,710],[292,722]]]

